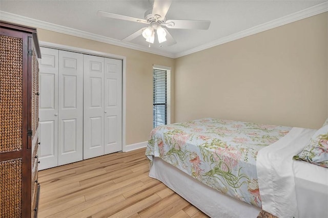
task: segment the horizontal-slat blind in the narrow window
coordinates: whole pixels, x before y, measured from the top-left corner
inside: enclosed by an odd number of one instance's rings
[[[153,127],[167,124],[167,70],[153,69]]]

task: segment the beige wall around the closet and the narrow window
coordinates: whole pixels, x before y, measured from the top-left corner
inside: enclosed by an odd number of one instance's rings
[[[153,128],[153,64],[172,67],[171,120],[174,121],[174,59],[43,29],[37,31],[40,41],[126,57],[127,145],[147,141]]]

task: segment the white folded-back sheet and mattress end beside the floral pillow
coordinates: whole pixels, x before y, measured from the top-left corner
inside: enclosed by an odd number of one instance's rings
[[[297,128],[261,149],[257,172],[262,209],[278,217],[328,217],[328,169],[293,160],[314,129]]]

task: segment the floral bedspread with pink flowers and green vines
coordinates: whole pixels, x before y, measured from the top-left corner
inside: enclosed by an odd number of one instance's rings
[[[291,127],[213,118],[158,126],[146,156],[159,157],[200,182],[261,207],[257,152],[288,134]]]

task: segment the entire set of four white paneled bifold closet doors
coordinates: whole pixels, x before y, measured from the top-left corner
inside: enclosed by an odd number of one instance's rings
[[[39,169],[120,151],[122,60],[43,47],[41,53]]]

